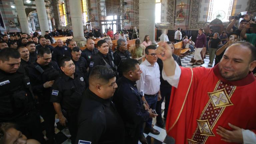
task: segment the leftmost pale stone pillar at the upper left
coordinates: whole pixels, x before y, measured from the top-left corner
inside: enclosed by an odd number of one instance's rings
[[[25,7],[23,5],[23,0],[15,0],[16,10],[19,16],[21,31],[23,33],[30,34],[28,26],[28,18],[25,12]]]

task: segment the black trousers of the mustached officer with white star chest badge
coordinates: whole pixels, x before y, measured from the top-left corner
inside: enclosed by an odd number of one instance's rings
[[[66,110],[67,111],[67,126],[68,126],[68,130],[70,132],[71,135],[71,143],[75,144],[76,141],[76,134],[77,134],[77,130],[78,130],[78,125],[77,125],[77,117],[78,117],[78,110]]]

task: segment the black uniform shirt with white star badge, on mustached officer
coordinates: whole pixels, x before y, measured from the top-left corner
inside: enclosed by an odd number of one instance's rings
[[[65,110],[78,109],[85,89],[83,73],[75,72],[74,79],[63,73],[52,86],[50,101],[60,103]]]

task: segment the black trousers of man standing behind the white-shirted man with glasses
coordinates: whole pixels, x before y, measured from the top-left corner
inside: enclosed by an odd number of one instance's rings
[[[156,103],[156,113],[158,116],[156,117],[156,120],[161,120],[162,118],[162,103],[165,98],[165,105],[164,105],[164,118],[167,116],[168,107],[170,103],[170,96],[171,96],[172,86],[171,85],[161,85],[160,86],[160,92],[162,99],[160,101],[157,101]]]

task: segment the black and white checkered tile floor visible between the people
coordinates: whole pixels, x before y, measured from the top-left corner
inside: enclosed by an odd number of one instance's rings
[[[200,65],[193,65],[193,63],[190,63],[191,58],[193,58],[194,54],[185,55],[185,57],[181,58],[181,63],[183,67],[199,67]],[[205,63],[201,66],[206,68],[212,68],[213,66],[208,64],[209,63],[209,55],[206,55],[206,58],[204,59]],[[164,110],[164,102],[162,103],[162,117],[163,117],[163,110]],[[43,121],[43,120],[42,120]],[[163,118],[163,121],[165,122],[165,119]],[[69,139],[71,135],[69,134],[69,130],[65,128],[64,126],[60,125],[59,119],[56,117],[55,120],[57,127],[55,128],[55,139],[58,144],[71,144],[71,140]],[[43,122],[42,122],[43,123]],[[165,127],[159,127],[156,124],[156,118],[153,119],[152,122],[153,128],[158,130],[160,132],[159,135],[154,135],[151,133],[144,133],[147,141],[149,144],[174,144],[175,140],[169,136],[166,135]],[[45,131],[43,131],[45,134]],[[138,142],[138,144],[141,144]]]

